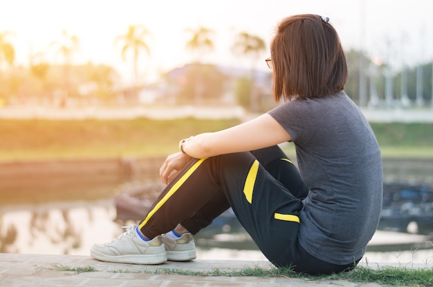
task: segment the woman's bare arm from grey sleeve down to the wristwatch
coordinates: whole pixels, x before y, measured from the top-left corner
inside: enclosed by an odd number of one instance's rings
[[[257,150],[290,140],[291,137],[286,130],[273,117],[264,114],[226,130],[196,135],[183,143],[182,149],[190,157],[202,159],[232,152]]]

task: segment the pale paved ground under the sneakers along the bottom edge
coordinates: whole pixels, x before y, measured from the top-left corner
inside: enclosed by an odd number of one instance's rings
[[[92,266],[94,272],[75,273],[64,268]],[[286,277],[226,277],[158,273],[158,270],[212,271],[239,270],[246,267],[271,268],[266,261],[210,261],[167,262],[158,266],[113,264],[101,262],[87,256],[71,255],[23,255],[0,253],[0,286],[367,286],[345,280],[296,279]]]

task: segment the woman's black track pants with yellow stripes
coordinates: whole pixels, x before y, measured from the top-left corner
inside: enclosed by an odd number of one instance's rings
[[[153,238],[181,223],[195,234],[231,206],[243,228],[276,266],[317,273],[320,264],[327,266],[323,273],[329,273],[329,268],[338,272],[344,266],[326,265],[309,256],[297,240],[299,213],[307,193],[297,168],[277,146],[193,159],[161,192],[140,222],[140,230]],[[322,273],[322,268],[318,270]]]

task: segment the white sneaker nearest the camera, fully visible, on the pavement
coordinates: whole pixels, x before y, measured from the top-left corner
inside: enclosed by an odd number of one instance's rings
[[[106,244],[95,244],[90,248],[90,255],[101,261],[131,264],[161,264],[167,261],[167,255],[160,236],[151,241],[142,241],[136,237],[136,225],[127,227],[127,231]]]

